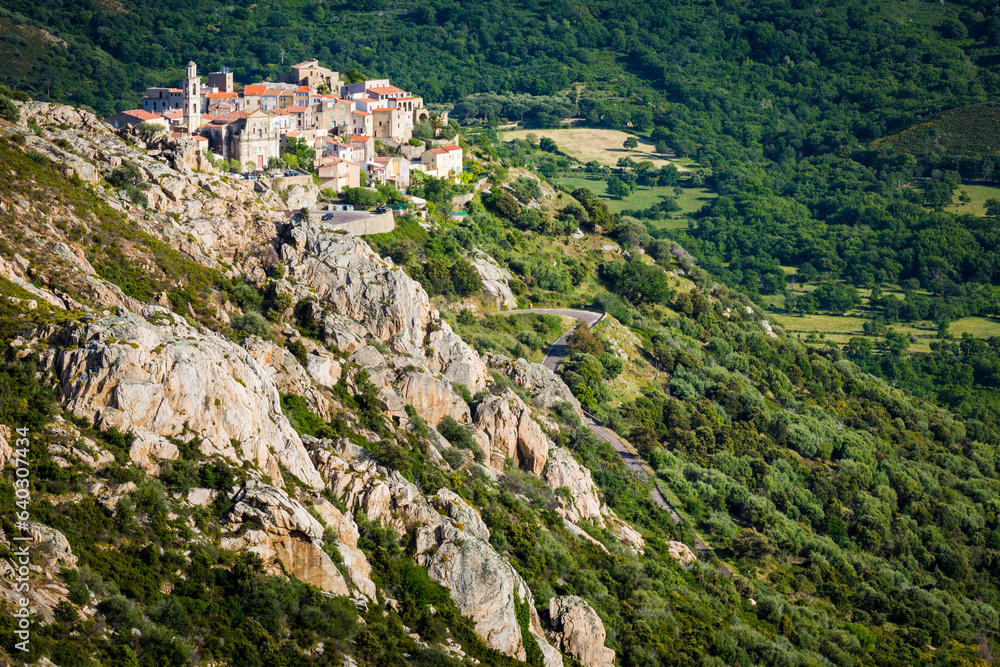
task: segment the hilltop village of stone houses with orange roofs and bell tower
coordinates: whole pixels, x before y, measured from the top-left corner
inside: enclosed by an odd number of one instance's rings
[[[197,66],[189,62],[181,88],[147,88],[141,109],[106,120],[116,128],[149,123],[190,134],[206,150],[247,170],[267,168],[289,139],[305,141],[316,149],[313,166],[321,187],[338,192],[358,187],[362,170],[369,183],[398,188],[409,185],[412,171],[438,178],[462,171],[459,146],[424,150],[409,145],[414,125],[429,120],[430,113],[423,99],[388,79],[346,83],[317,60],[293,65],[280,82],[248,85],[239,92],[226,68],[206,78],[203,85]],[[376,139],[398,147],[403,157],[376,155]]]

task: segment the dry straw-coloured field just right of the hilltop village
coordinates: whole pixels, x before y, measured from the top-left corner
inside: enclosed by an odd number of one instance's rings
[[[691,170],[687,160],[668,160],[663,155],[653,152],[653,142],[646,137],[628,134],[620,130],[597,130],[582,127],[571,127],[565,130],[514,130],[501,133],[501,137],[510,141],[511,139],[524,139],[529,134],[534,134],[539,138],[549,137],[556,142],[559,150],[581,162],[596,160],[601,164],[614,167],[618,164],[619,158],[630,157],[636,162],[649,160],[657,167],[673,164],[680,171]],[[639,140],[639,148],[630,151],[622,146],[629,137],[636,137]]]

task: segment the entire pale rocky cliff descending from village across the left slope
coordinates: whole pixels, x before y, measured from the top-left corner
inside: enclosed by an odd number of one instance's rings
[[[56,214],[68,222],[52,226],[39,222],[34,185],[0,198],[20,230],[19,252],[0,258],[14,323],[5,330],[5,353],[8,363],[32,364],[65,410],[65,418],[51,418],[63,435],[48,437],[46,451],[57,466],[82,466],[74,474],[87,492],[78,500],[92,496],[108,516],[126,517],[122,526],[136,525],[126,514],[134,507],[139,526],[175,521],[192,548],[252,555],[264,574],[294,577],[371,610],[365,613],[383,613],[386,587],[400,586],[371,550],[373,529],[359,528],[381,525],[395,533],[410,567],[444,587],[478,637],[475,650],[558,667],[561,647],[584,664],[609,664],[592,615],[578,621],[576,612],[560,611],[561,634],[547,633],[539,615],[546,600],[536,599],[509,559],[507,538],[491,534],[472,502],[498,498],[498,485],[515,479],[513,466],[539,488],[569,492],[551,526],[512,505],[515,521],[530,521],[533,531],[568,531],[559,539],[610,553],[575,526],[589,521],[641,552],[642,536],[608,509],[589,471],[543,428],[559,429],[548,415],[558,403],[579,407],[558,378],[523,360],[484,359],[391,260],[350,234],[288,220],[272,195],[215,172],[189,140],[132,133],[126,143],[86,112],[38,103],[21,111],[22,124],[3,130],[13,146],[5,150],[15,157],[37,151],[43,158],[35,164],[78,179],[72,187],[80,197],[106,205],[96,213],[61,205]],[[107,182],[123,164],[138,167],[146,204],[130,205]],[[108,264],[110,255],[84,242],[95,236],[74,231],[96,228],[97,219],[125,230],[127,243],[115,243],[127,246],[122,266],[135,262],[138,274],[126,279]],[[511,305],[503,273],[484,267],[498,304]],[[163,280],[144,282],[151,276]],[[194,294],[196,277],[210,297]],[[237,292],[233,285],[241,283]],[[246,286],[263,295],[272,323],[260,318],[254,335],[230,326],[253,312],[240,300]],[[491,368],[510,382],[498,384]],[[468,430],[481,463],[435,430],[445,417]],[[0,462],[11,458],[11,437],[0,429]],[[479,490],[469,492],[473,487]],[[171,491],[157,496],[156,488]],[[77,564],[61,533],[36,528],[53,554],[47,576],[55,564]],[[88,563],[100,562],[87,554]],[[11,585],[10,577],[0,584],[8,600]],[[111,589],[80,585],[118,599]],[[51,620],[60,601],[77,598],[57,587],[34,594],[32,604]],[[581,633],[590,634],[589,643]],[[419,633],[408,636],[428,646]],[[465,655],[454,637],[438,641]],[[473,640],[463,641],[472,650]]]

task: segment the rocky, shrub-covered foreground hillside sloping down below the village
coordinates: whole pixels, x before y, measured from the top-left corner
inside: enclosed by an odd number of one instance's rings
[[[465,219],[369,242],[183,141],[17,107],[0,556],[33,536],[31,659],[989,664],[995,422],[786,337],[680,247],[585,192],[552,208],[485,149]],[[108,180],[129,164],[144,197]],[[493,314],[501,286],[611,319],[556,376],[517,357],[565,325]],[[18,604],[9,577],[0,595]]]

